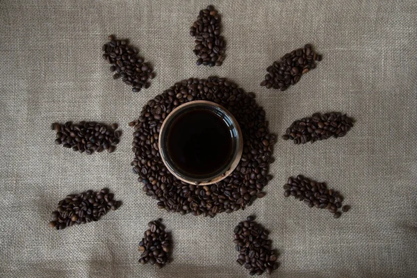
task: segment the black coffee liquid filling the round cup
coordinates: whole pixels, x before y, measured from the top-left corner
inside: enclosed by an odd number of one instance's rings
[[[210,177],[231,161],[234,143],[229,126],[220,115],[196,108],[178,115],[167,133],[167,153],[181,170]]]

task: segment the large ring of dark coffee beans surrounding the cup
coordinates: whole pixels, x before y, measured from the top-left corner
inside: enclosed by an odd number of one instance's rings
[[[243,133],[243,155],[229,177],[209,186],[195,186],[174,177],[158,152],[158,136],[163,120],[177,106],[193,100],[213,101],[234,115]],[[276,138],[268,131],[265,111],[238,85],[215,76],[175,83],[163,94],[150,99],[134,126],[133,172],[143,182],[145,193],[158,201],[158,208],[193,215],[231,213],[250,206],[272,177],[272,146]]]

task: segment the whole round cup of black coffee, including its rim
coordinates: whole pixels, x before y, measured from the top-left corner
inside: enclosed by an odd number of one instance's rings
[[[226,178],[242,156],[240,126],[226,108],[190,101],[172,111],[161,126],[159,152],[181,181],[208,185]]]

